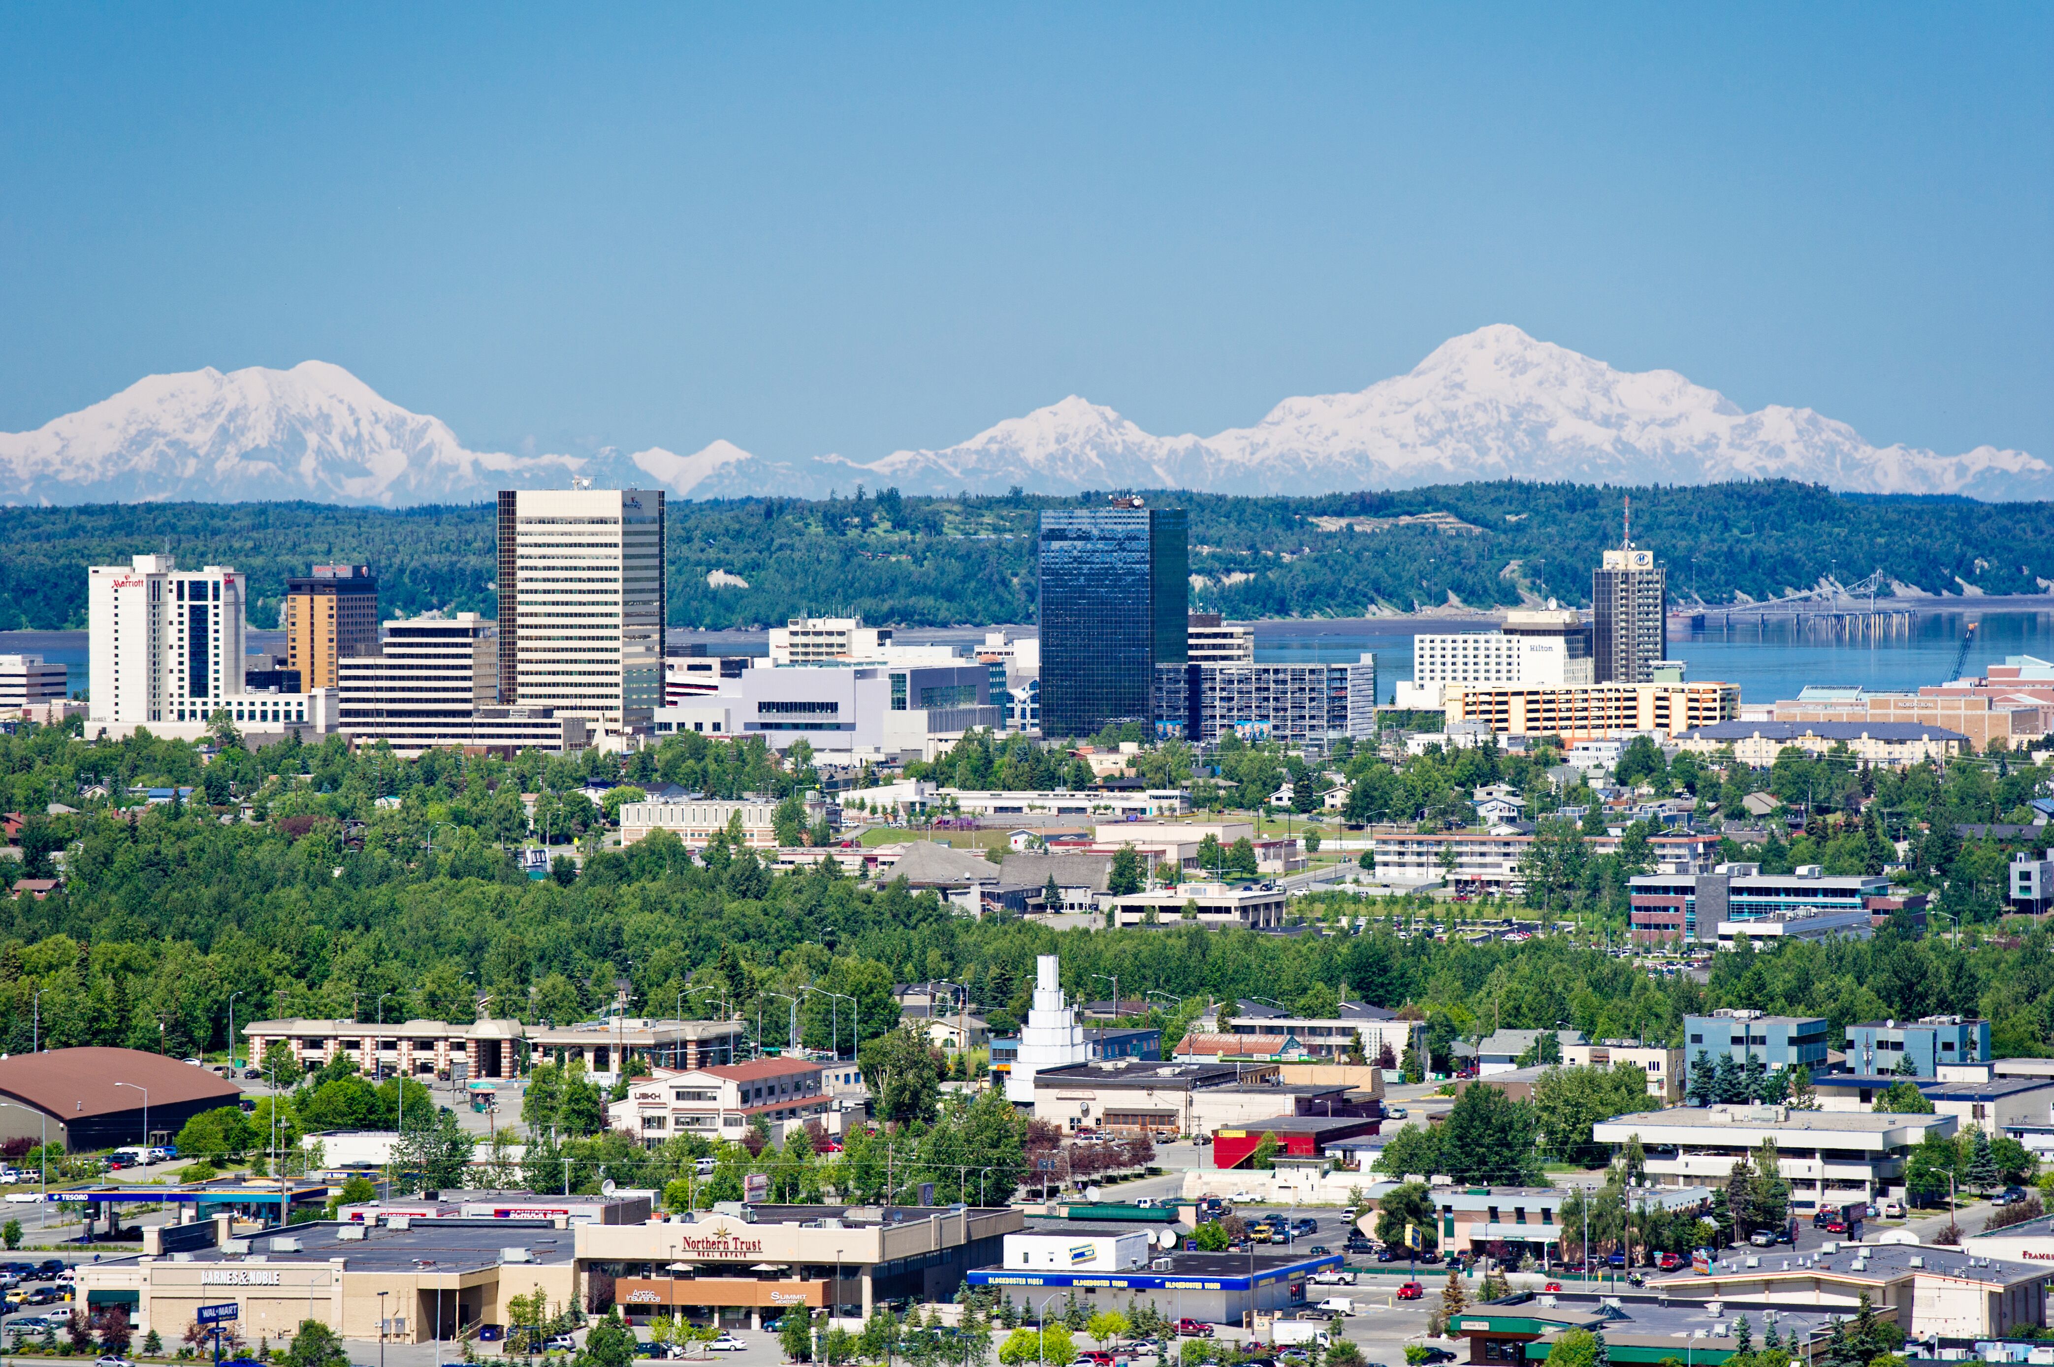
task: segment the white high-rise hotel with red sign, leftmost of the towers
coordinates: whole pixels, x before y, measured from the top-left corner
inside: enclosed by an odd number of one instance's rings
[[[242,593],[234,569],[173,556],[94,564],[86,579],[97,722],[205,722],[242,694]]]

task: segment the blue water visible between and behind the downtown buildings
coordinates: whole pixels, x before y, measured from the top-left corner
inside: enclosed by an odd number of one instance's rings
[[[1974,632],[1970,632],[1974,624]],[[1009,628],[1019,630],[1019,628]],[[1278,663],[1347,663],[1364,651],[1376,655],[1376,692],[1391,702],[1399,679],[1411,677],[1413,636],[1419,632],[1495,630],[1473,620],[1319,618],[1255,624],[1255,659]],[[670,640],[705,642],[713,655],[764,655],[762,632],[680,632]],[[978,645],[984,628],[902,630],[900,640]],[[1968,640],[1964,657],[1962,642]],[[251,653],[283,653],[283,632],[249,632]],[[0,632],[0,655],[41,655],[72,669],[72,688],[86,684],[86,632]],[[1795,698],[1805,684],[1859,684],[1873,692],[1916,692],[1945,684],[2009,655],[2054,659],[2054,612],[1923,612],[1904,628],[1881,636],[1836,636],[1824,624],[1773,618],[1705,630],[1670,628],[1670,659],[1686,665],[1688,679],[1740,684],[1744,702]],[[1960,669],[1955,661],[1962,661]]]

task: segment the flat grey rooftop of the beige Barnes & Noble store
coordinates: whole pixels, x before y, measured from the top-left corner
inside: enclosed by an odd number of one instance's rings
[[[279,1248],[279,1240],[298,1240],[300,1248]],[[249,1256],[271,1262],[343,1258],[345,1273],[477,1273],[499,1266],[505,1248],[526,1248],[530,1262],[571,1262],[577,1232],[546,1219],[411,1219],[405,1229],[316,1221],[249,1236]],[[111,1258],[99,1266],[131,1262],[140,1258]],[[244,1262],[244,1254],[195,1248],[191,1262]]]

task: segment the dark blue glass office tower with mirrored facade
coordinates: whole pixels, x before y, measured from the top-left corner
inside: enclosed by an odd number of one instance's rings
[[[1187,542],[1183,509],[1132,497],[1041,513],[1041,735],[1154,725],[1156,667],[1187,659]]]

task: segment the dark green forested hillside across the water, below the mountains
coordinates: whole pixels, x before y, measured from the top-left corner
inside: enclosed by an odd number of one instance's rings
[[[1939,593],[2033,593],[2054,579],[2054,505],[1851,499],[1789,482],[1692,489],[1458,484],[1319,499],[1161,493],[1191,511],[1193,606],[1232,618],[1362,616],[1372,606],[1590,595],[1590,569],[1633,530],[1670,567],[1676,597],[1754,599],[1873,569]],[[1082,503],[1097,503],[1087,497]],[[1029,495],[670,505],[670,624],[756,626],[854,610],[879,624],[1033,622]],[[1430,523],[1399,517],[1440,513]],[[1356,521],[1368,519],[1368,521]],[[493,511],[343,509],[314,503],[0,509],[0,628],[84,626],[86,564],[170,550],[234,564],[271,626],[286,577],[327,560],[370,562],[386,612],[493,608]],[[711,577],[711,579],[709,579]],[[739,583],[737,583],[739,581]],[[744,587],[746,585],[746,587]]]

